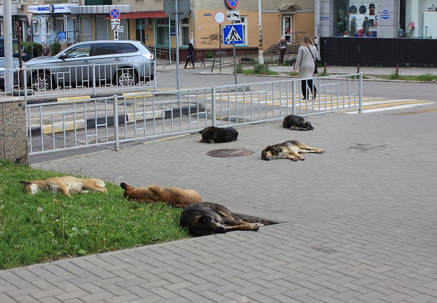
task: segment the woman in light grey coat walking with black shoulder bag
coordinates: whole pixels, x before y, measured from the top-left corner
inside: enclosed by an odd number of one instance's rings
[[[299,46],[298,55],[296,57],[296,65],[293,72],[296,73],[296,71],[299,70],[299,78],[314,77],[314,68],[316,66],[314,59],[317,58],[317,48],[314,46],[314,42],[309,35],[303,37],[302,45]],[[304,100],[308,99],[308,88],[312,92],[313,99],[316,98],[317,89],[313,84],[313,79],[303,80],[301,81],[301,85]]]

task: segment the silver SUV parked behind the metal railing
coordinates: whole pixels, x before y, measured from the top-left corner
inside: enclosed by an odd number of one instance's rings
[[[28,87],[123,85],[154,78],[154,55],[139,41],[88,41],[71,45],[54,57],[34,58],[23,65]]]

